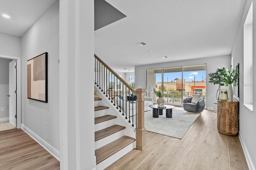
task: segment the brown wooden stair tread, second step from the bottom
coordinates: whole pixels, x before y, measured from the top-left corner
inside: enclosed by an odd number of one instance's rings
[[[100,140],[106,136],[109,136],[110,134],[114,134],[120,130],[123,130],[125,129],[126,127],[124,126],[120,126],[120,125],[113,125],[111,127],[107,127],[107,128],[104,128],[102,130],[98,130],[96,132],[94,132],[94,138],[95,140],[94,141],[97,141],[97,140]]]

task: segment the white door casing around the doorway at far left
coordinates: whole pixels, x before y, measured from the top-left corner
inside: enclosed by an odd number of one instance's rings
[[[17,61],[17,128],[21,128],[21,58],[1,54],[0,58],[16,59]]]

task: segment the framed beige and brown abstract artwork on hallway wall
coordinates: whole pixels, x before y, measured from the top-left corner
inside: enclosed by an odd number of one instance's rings
[[[48,102],[47,91],[47,57],[42,53],[27,61],[27,96],[28,99]]]

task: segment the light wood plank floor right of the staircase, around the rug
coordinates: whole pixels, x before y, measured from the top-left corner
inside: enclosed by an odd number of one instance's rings
[[[248,170],[238,136],[216,127],[217,114],[204,110],[181,140],[147,131],[145,150],[132,150],[106,170]]]

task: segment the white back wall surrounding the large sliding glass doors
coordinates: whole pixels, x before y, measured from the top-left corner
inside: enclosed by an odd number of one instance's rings
[[[183,66],[198,65],[198,64],[206,64],[206,77],[207,77],[206,82],[208,82],[208,73],[215,72],[217,68],[222,68],[222,67],[230,68],[231,55],[135,66],[135,89],[137,89],[138,87],[142,87],[146,89],[146,70],[147,69],[175,67],[175,66],[182,66],[182,65]],[[218,89],[218,85],[212,85],[211,83],[206,83],[207,108],[213,108],[213,103],[216,103],[215,92],[217,92],[217,89]]]

